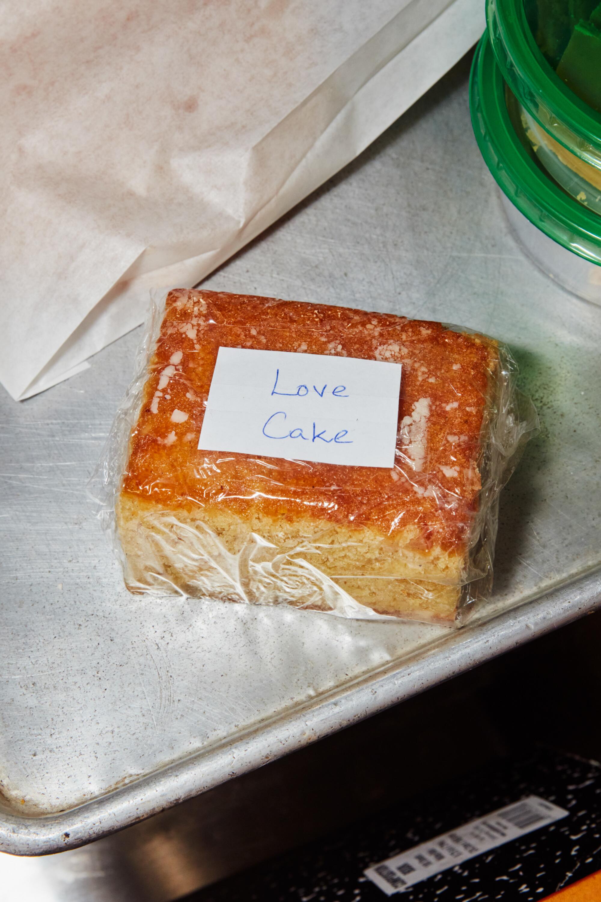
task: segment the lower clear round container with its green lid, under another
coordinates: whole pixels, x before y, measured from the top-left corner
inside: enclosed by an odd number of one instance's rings
[[[474,58],[470,108],[476,141],[526,253],[559,284],[601,304],[601,216],[541,167],[487,33]]]

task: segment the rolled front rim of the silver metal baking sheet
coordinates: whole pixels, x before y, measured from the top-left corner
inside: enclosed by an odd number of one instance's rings
[[[505,651],[601,608],[601,566],[485,621],[449,632],[411,654],[368,670],[232,739],[53,815],[0,808],[0,851],[36,856],[86,845],[159,814],[233,777],[398,704]]]

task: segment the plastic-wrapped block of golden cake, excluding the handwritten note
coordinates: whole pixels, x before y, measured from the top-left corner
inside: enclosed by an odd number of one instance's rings
[[[199,450],[219,347],[402,364],[391,469]],[[459,624],[537,428],[504,345],[363,310],[173,290],[90,484],[133,593]]]

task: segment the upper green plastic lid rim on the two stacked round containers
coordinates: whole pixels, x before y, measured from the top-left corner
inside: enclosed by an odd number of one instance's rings
[[[486,0],[486,22],[503,77],[522,106],[569,152],[601,169],[601,113],[551,68],[524,0]]]

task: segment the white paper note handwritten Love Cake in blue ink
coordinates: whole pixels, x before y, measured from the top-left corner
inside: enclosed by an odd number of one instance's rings
[[[220,347],[199,449],[392,468],[401,364]]]

